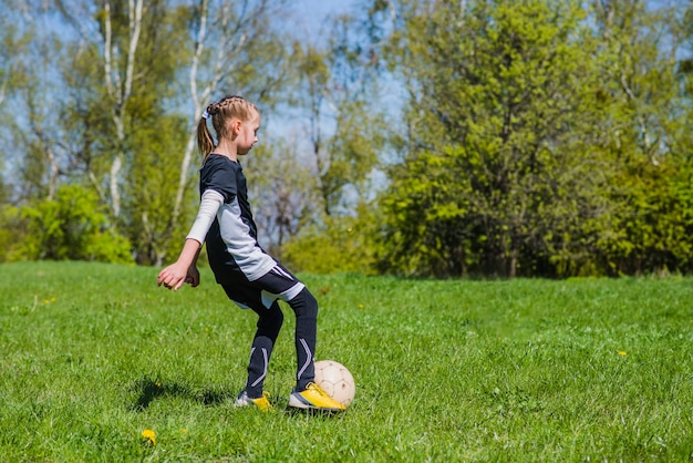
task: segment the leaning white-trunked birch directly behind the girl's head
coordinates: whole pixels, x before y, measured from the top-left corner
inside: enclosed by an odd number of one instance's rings
[[[283,3],[282,0],[242,3],[199,0],[193,8],[194,52],[187,80],[190,130],[180,162],[170,224],[179,219],[185,192],[189,188],[197,146],[196,127],[206,106],[220,93],[228,92],[247,94],[260,104],[269,104],[270,91],[282,82],[286,51],[269,23],[282,13]]]

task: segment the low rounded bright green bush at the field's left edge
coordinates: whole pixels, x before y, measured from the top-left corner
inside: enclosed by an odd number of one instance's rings
[[[132,263],[130,243],[108,226],[99,198],[79,185],[63,185],[55,199],[24,206],[23,259]]]

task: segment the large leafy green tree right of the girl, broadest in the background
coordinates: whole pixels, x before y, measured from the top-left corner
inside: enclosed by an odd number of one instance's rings
[[[582,138],[593,121],[583,13],[576,2],[418,7],[403,6],[393,37],[410,132],[382,203],[391,244],[383,266],[548,271],[552,239],[573,232],[563,219],[596,214],[603,182],[579,176],[599,162]]]

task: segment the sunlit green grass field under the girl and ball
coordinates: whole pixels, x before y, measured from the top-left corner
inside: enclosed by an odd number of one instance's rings
[[[0,461],[693,460],[693,279],[303,275],[358,383],[324,416],[287,410],[288,306],[273,411],[234,409],[255,316],[157,271],[0,266]]]

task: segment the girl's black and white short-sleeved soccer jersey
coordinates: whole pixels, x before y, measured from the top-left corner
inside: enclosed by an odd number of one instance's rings
[[[209,189],[224,197],[205,239],[209,266],[217,282],[232,285],[257,280],[277,261],[258,243],[240,164],[218,154],[207,156],[200,169],[200,196]]]

